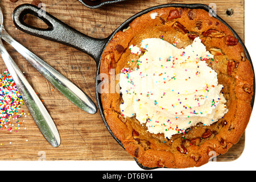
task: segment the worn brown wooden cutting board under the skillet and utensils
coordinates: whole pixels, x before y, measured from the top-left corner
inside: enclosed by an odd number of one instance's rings
[[[23,46],[30,49],[41,59],[71,80],[96,103],[94,82],[96,78],[96,63],[94,60],[74,48],[59,43],[36,38],[16,30],[11,18],[16,6],[31,3],[32,0],[19,0],[16,3],[2,0],[0,5],[4,14],[6,31]],[[69,26],[94,38],[108,37],[121,23],[130,16],[151,6],[166,3],[204,3],[212,4],[217,14],[226,20],[241,39],[244,40],[244,1],[242,0],[127,0],[121,3],[106,5],[100,9],[88,9],[76,0],[42,0],[46,11]],[[212,6],[212,7],[213,7]],[[227,15],[232,9],[233,14]],[[230,11],[228,11],[230,13]],[[31,20],[32,21],[32,20]],[[37,26],[42,23],[35,22]],[[36,71],[11,46],[5,44],[14,61],[24,72],[27,80],[43,100],[49,114],[56,123],[61,137],[61,144],[53,148],[40,133],[27,107],[22,106],[26,113],[20,118],[22,125],[16,133],[0,130],[0,160],[133,160],[133,158],[114,140],[106,129],[100,113],[94,115],[85,113],[73,105],[59,91]],[[0,57],[0,73],[6,70]],[[15,128],[16,125],[13,126]],[[26,129],[25,129],[26,128]],[[221,155],[217,161],[232,161],[243,151],[245,135],[227,154]]]

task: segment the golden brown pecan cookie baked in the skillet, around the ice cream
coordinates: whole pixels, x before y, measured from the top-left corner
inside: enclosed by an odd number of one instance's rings
[[[156,16],[152,18],[152,14]],[[143,39],[164,38],[176,43],[177,48],[190,45],[197,36],[214,55],[208,65],[218,73],[218,82],[224,86],[228,113],[210,126],[200,123],[183,134],[167,139],[163,134],[151,134],[137,119],[123,117],[120,110],[122,96],[111,92],[115,78],[123,68],[137,67],[139,55],[131,54],[129,47]],[[114,69],[114,72],[113,72]],[[166,7],[144,14],[119,31],[102,54],[100,73],[108,82],[108,93],[101,93],[106,121],[126,151],[144,167],[187,168],[208,163],[215,154],[225,154],[245,132],[251,115],[254,73],[245,51],[232,31],[220,20],[201,9]],[[108,79],[106,78],[108,77]]]

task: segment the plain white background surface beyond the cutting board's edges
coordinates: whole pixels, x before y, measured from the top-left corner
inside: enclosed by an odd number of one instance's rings
[[[214,2],[214,0],[213,0]],[[232,5],[230,5],[232,6]],[[256,32],[254,30],[255,22],[255,0],[245,0],[245,45],[250,53],[251,60],[253,61],[254,67],[256,67]],[[233,162],[209,162],[199,168],[188,168],[188,169],[156,169],[162,171],[191,171],[191,170],[256,170],[256,112],[255,107],[251,115],[251,120],[246,129],[245,135],[245,149],[243,150],[242,155],[237,160]],[[48,162],[48,161],[35,161],[35,162],[0,162],[1,168],[11,170],[110,170],[110,171],[143,171],[139,168],[135,161],[123,162],[123,161],[82,161],[82,162]],[[3,169],[3,168],[2,168]]]

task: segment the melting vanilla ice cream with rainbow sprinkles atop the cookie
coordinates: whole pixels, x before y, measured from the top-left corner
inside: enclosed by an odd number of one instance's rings
[[[217,73],[205,61],[214,56],[199,38],[181,49],[162,39],[144,39],[141,48],[146,52],[139,67],[123,68],[120,75],[125,117],[136,117],[150,133],[171,138],[199,122],[209,126],[228,112]]]

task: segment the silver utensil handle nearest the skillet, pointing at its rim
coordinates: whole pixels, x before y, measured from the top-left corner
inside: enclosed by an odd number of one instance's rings
[[[57,72],[54,68],[29,51],[27,48],[16,42],[6,31],[2,30],[2,39],[13,46],[33,67],[35,67],[57,90],[67,97],[80,109],[95,114],[97,107],[93,101],[82,90],[66,77]]]

